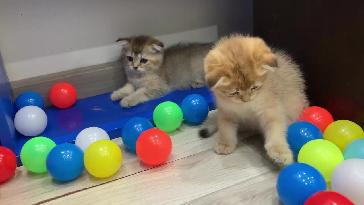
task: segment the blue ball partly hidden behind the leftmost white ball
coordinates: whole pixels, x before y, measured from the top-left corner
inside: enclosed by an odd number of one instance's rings
[[[21,108],[28,105],[34,105],[36,107],[39,107],[40,109],[43,109],[44,108],[43,97],[36,92],[27,91],[20,94],[15,100],[15,107],[17,110],[20,110]]]

